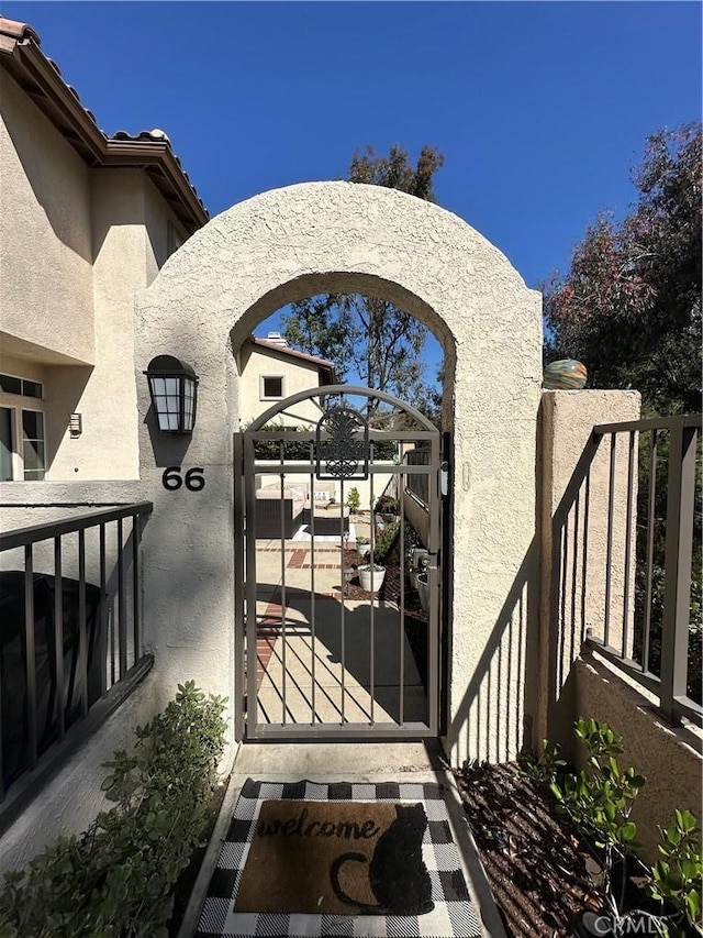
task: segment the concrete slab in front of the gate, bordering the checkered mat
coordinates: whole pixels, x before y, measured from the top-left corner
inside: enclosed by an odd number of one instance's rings
[[[241,746],[178,938],[192,938],[196,934],[210,878],[217,862],[239,791],[248,777],[270,782],[297,782],[308,779],[325,784],[388,781],[435,782],[444,785],[451,832],[461,858],[471,900],[481,917],[482,933],[490,938],[506,938],[466,823],[454,777],[446,770],[438,744],[420,742]]]

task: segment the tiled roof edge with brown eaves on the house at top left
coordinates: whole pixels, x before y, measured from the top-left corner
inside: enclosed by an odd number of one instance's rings
[[[26,23],[0,16],[0,65],[18,80],[34,103],[66,136],[89,166],[134,166],[144,169],[189,234],[202,228],[208,210],[172,151],[164,131],[108,136],[85,108],[59,67],[41,49],[41,40]]]

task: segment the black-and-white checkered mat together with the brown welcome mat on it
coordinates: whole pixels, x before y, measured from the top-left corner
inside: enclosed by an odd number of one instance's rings
[[[244,784],[198,938],[478,938],[438,784]]]

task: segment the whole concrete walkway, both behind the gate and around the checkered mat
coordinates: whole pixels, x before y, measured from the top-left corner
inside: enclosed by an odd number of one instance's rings
[[[315,544],[314,549],[300,541],[284,541],[282,545],[280,540],[257,542],[259,722],[341,725],[427,719],[424,687],[401,628],[399,610],[378,600],[371,604],[344,597],[342,549],[341,543],[328,541]],[[434,782],[444,785],[454,840],[473,905],[482,919],[483,935],[505,938],[454,776],[446,770],[435,741],[242,744],[178,938],[192,938],[197,930],[234,806],[249,777],[267,782],[306,779],[323,784]]]

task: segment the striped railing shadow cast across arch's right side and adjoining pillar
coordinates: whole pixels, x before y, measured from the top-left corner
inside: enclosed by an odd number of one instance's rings
[[[550,492],[543,483],[543,420],[537,429],[537,510],[533,539],[449,727],[457,760],[510,761],[547,733],[569,744],[574,719],[571,665],[589,626],[587,522],[599,441],[592,435],[554,516],[542,523]],[[607,453],[604,453],[604,456]],[[548,501],[547,501],[548,504]],[[450,639],[449,639],[450,640]]]

